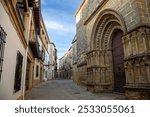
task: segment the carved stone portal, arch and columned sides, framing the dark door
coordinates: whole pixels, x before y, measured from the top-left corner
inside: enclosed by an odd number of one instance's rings
[[[113,37],[122,31],[122,89],[129,99],[150,99],[150,27],[141,26],[128,32],[123,18],[113,10],[100,13],[93,28],[90,52],[87,53],[87,89],[92,92],[115,90],[116,77],[113,58]],[[117,68],[119,69],[119,67]],[[120,70],[121,70],[120,69]],[[119,85],[119,82],[118,82]],[[124,90],[119,91],[124,92]]]

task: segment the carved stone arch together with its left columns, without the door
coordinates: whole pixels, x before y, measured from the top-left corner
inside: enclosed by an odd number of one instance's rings
[[[116,11],[102,11],[93,26],[88,60],[88,89],[93,92],[112,91],[114,87],[112,40],[116,30],[126,33],[123,18]]]

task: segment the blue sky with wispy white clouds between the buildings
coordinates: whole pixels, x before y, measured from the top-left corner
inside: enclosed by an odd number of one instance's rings
[[[70,48],[76,33],[74,14],[82,0],[41,0],[42,16],[50,40],[55,43],[58,58]]]

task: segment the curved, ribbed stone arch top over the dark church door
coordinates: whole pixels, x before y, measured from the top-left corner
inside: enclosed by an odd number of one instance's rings
[[[91,42],[90,42],[90,49],[101,49],[100,41],[103,36],[107,37],[112,35],[115,29],[121,29],[125,34],[127,32],[126,24],[122,16],[115,10],[112,9],[105,9],[99,15],[95,21],[93,26],[92,35],[91,35]],[[104,31],[107,31],[104,33]],[[111,32],[109,32],[111,31]],[[111,39],[109,39],[111,40]],[[111,48],[111,43],[109,44]]]

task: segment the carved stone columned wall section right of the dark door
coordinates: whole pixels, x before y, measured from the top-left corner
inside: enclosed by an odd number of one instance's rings
[[[150,94],[147,95],[150,90],[149,30],[148,27],[138,27],[124,37],[126,96],[130,99],[150,98]],[[137,93],[133,93],[135,90]]]

